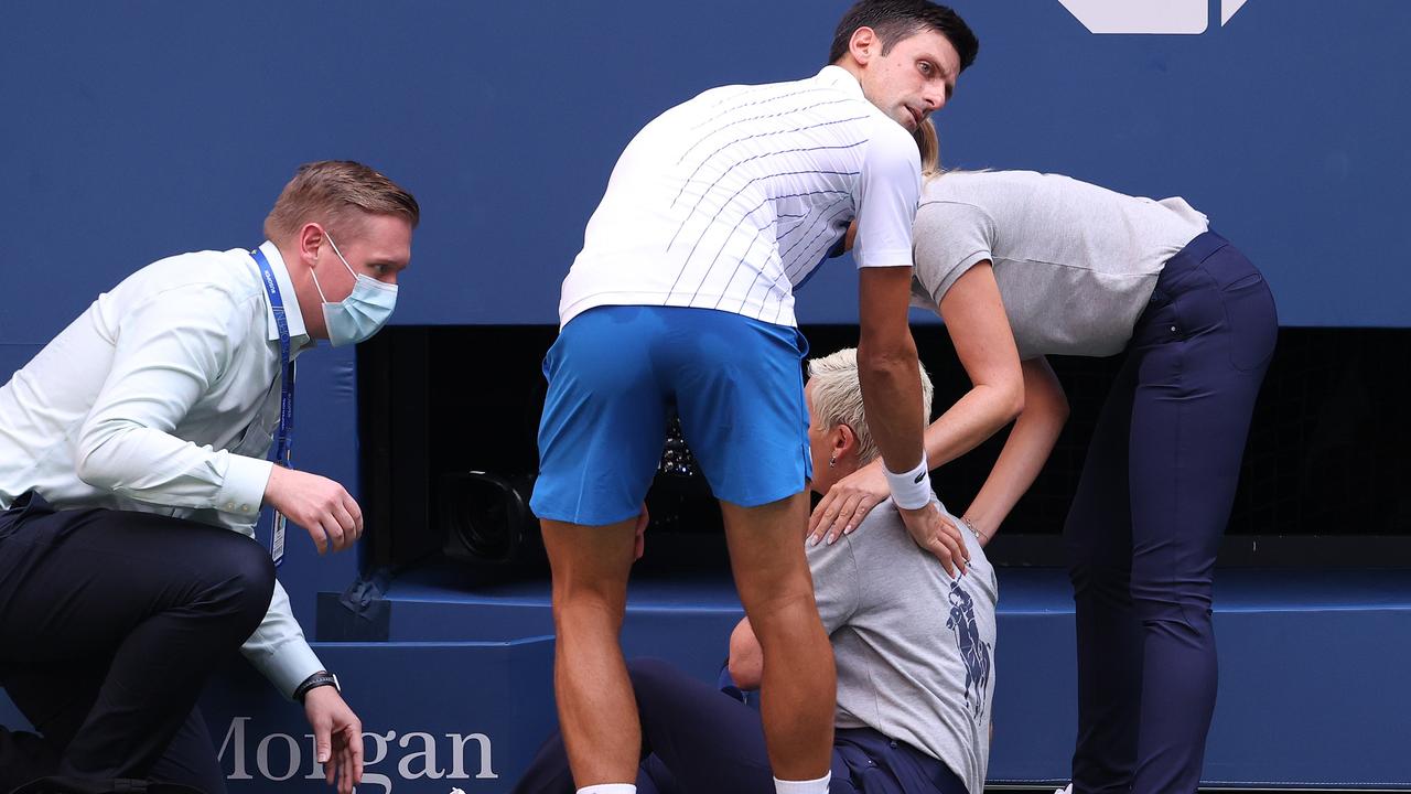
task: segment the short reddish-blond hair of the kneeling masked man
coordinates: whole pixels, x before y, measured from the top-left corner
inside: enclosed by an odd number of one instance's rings
[[[284,186],[265,218],[265,237],[285,239],[309,222],[354,233],[360,213],[399,215],[412,229],[422,219],[416,199],[396,182],[361,162],[322,160],[301,165]]]

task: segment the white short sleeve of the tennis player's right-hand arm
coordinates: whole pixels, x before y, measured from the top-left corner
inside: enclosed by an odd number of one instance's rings
[[[858,177],[858,267],[912,267],[912,222],[921,196],[921,154],[892,122],[879,122]]]

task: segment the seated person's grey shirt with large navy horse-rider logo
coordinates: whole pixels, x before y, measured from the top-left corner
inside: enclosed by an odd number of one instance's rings
[[[906,742],[981,794],[989,766],[999,583],[979,541],[961,534],[971,559],[965,575],[952,579],[916,545],[888,499],[855,531],[807,554],[838,668],[834,725]]]

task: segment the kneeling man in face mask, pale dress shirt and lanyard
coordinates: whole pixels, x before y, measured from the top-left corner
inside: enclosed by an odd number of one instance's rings
[[[224,791],[195,704],[237,648],[351,791],[361,723],[275,581],[282,531],[271,550],[254,524],[272,507],[320,552],[361,534],[343,486],[288,465],[292,362],[387,322],[419,212],[365,165],[308,164],[258,249],[144,267],[0,387],[0,685],[42,736],[0,728],[0,791]]]

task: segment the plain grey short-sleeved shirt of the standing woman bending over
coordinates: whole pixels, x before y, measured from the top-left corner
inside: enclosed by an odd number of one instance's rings
[[[927,179],[912,304],[991,260],[1020,359],[1126,348],[1165,261],[1209,227],[1181,198],[1122,195],[1057,174],[958,171]]]

